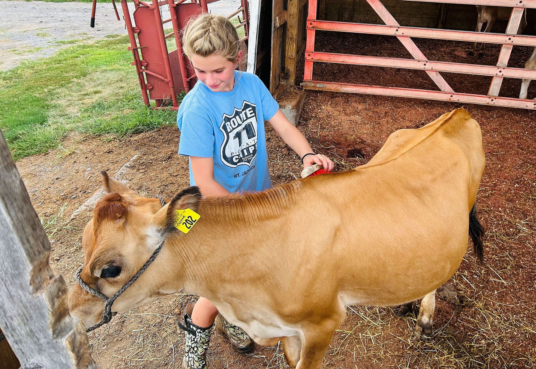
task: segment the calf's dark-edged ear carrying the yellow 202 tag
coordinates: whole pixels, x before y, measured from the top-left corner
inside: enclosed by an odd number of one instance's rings
[[[175,210],[191,209],[197,212],[201,199],[202,194],[197,186],[182,190],[153,215],[153,224],[165,233],[175,231]]]

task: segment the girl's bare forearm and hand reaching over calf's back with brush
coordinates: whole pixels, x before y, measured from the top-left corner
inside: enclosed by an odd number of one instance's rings
[[[281,109],[277,111],[276,115],[274,115],[268,123],[270,123],[274,131],[276,131],[283,141],[285,141],[296,154],[300,155],[300,157],[303,157],[303,155],[308,153],[314,153],[305,136],[288,121]],[[322,154],[307,155],[303,158],[303,168],[310,167],[312,164],[322,165],[322,168],[327,171],[333,170],[333,162],[327,156]]]

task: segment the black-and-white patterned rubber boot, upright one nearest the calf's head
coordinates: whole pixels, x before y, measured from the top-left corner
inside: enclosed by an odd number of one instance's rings
[[[184,325],[177,318],[178,326],[186,333],[183,369],[206,369],[206,350],[209,348],[212,324],[210,327],[199,327],[192,323],[192,310],[195,303],[186,306]]]

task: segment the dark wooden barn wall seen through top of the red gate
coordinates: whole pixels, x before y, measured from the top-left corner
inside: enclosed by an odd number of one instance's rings
[[[402,26],[436,28],[441,3],[384,0],[382,3]],[[447,8],[442,28],[474,31],[477,7],[444,4]],[[384,24],[366,0],[321,0],[319,19]]]

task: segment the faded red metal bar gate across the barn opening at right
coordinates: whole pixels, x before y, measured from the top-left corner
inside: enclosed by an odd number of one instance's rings
[[[438,0],[404,0],[439,2]],[[536,70],[507,67],[513,45],[536,46],[536,36],[517,35],[517,29],[525,8],[536,8],[536,0],[442,0],[442,3],[495,5],[513,7],[505,34],[451,31],[448,29],[403,27],[400,26],[380,0],[367,0],[385,25],[317,20],[318,0],[309,0],[309,17],[307,19],[307,46],[305,52],[305,70],[302,86],[306,89],[322,91],[352,92],[418,99],[456,101],[473,104],[487,104],[504,107],[536,109],[535,100],[498,97],[503,78],[536,79]],[[396,36],[410,52],[414,59],[375,57],[365,55],[333,54],[315,51],[315,31],[339,31],[376,35]],[[502,44],[496,66],[429,61],[415,45],[411,37],[468,42],[486,42]],[[345,63],[403,69],[424,70],[441,91],[416,88],[382,87],[359,84],[312,80],[314,62]],[[457,93],[441,77],[439,72],[478,74],[493,77],[487,95]]]

